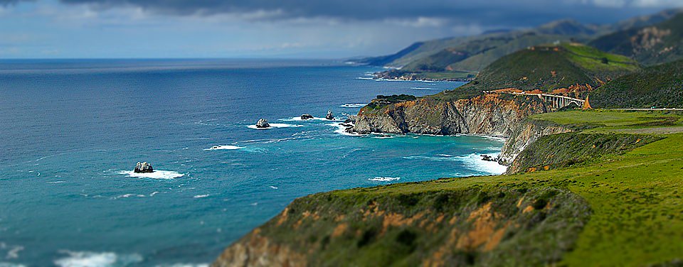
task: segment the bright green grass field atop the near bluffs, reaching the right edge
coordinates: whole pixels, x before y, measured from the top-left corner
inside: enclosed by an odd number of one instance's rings
[[[532,118],[558,124],[591,124],[597,127],[585,131],[609,133],[617,129],[659,129],[662,126],[642,124],[660,121],[663,117],[677,118],[674,126],[683,129],[682,114],[665,112],[566,111]],[[662,263],[683,258],[683,133],[664,136],[660,141],[623,155],[603,157],[591,165],[518,175],[397,184],[377,187],[373,192],[407,194],[529,182],[537,186],[566,185],[568,190],[586,199],[593,214],[576,247],[562,263],[569,266]]]

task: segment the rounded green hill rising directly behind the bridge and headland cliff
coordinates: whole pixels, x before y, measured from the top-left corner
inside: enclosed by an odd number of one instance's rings
[[[544,92],[572,85],[595,88],[639,68],[634,60],[577,43],[534,46],[496,60],[467,85],[434,97],[468,98],[504,88]]]

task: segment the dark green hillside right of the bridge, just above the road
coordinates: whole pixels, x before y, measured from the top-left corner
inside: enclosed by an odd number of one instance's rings
[[[591,93],[592,107],[683,108],[683,60],[624,75]]]

